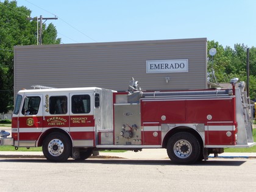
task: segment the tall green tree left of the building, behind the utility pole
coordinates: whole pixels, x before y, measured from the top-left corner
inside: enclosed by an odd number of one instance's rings
[[[37,44],[37,21],[27,20],[31,11],[16,1],[0,2],[0,113],[13,107],[13,46]],[[43,44],[58,44],[53,24],[43,24]]]

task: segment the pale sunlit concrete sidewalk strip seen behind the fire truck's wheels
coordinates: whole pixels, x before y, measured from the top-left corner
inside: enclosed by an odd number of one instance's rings
[[[20,151],[0,151],[0,158],[44,158],[43,152],[26,152]],[[99,152],[98,156],[91,156],[90,158],[126,158],[132,160],[163,160],[169,159],[166,149],[143,149],[139,152],[126,151],[126,152]],[[209,158],[214,158],[213,154]],[[256,153],[233,153],[224,152],[218,155],[218,158],[256,158]]]

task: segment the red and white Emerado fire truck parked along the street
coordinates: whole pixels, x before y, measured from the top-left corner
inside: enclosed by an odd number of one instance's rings
[[[243,88],[127,92],[104,88],[21,90],[12,117],[12,137],[1,145],[42,146],[53,162],[86,159],[93,151],[166,148],[175,163],[207,160],[224,148],[255,143]]]

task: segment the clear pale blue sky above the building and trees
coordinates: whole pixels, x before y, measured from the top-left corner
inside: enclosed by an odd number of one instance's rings
[[[63,44],[207,38],[224,48],[256,47],[255,0],[16,1],[31,17],[56,16],[45,24]]]

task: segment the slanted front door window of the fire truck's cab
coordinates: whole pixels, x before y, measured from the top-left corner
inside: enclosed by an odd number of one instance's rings
[[[23,115],[37,115],[41,98],[38,96],[28,96],[25,98],[21,113]]]

